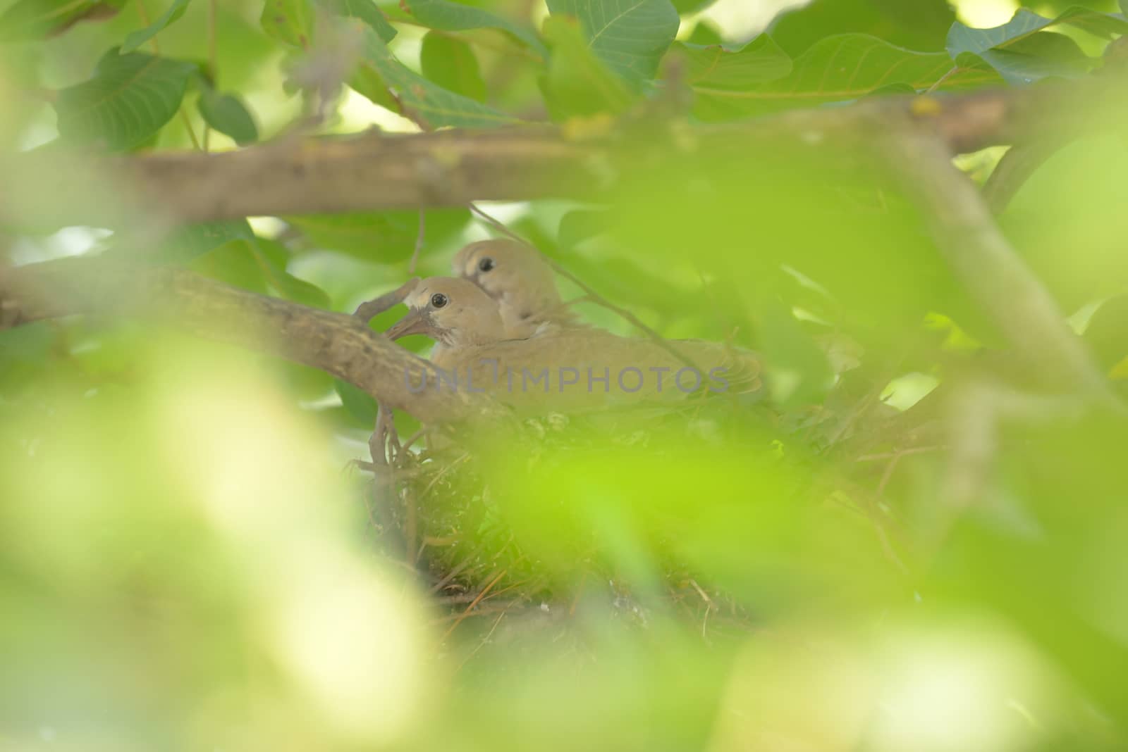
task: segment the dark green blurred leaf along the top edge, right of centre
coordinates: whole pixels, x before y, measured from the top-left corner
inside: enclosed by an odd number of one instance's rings
[[[792,57],[839,34],[866,34],[909,50],[938,51],[955,21],[946,0],[816,0],[779,16],[768,28]]]

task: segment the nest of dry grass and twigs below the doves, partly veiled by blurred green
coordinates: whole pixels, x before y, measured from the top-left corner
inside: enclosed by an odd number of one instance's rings
[[[543,449],[590,449],[590,440],[578,439],[582,431],[567,430],[562,417],[527,426]],[[638,431],[622,440],[640,440]],[[456,629],[493,634],[506,617],[526,630],[559,629],[592,612],[641,629],[660,612],[700,629],[705,641],[746,635],[755,626],[735,598],[669,557],[658,556],[662,571],[650,583],[617,572],[594,536],[567,540],[574,566],[539,561],[499,512],[469,451],[448,447],[405,463],[386,532],[405,541],[405,559],[423,574],[440,607],[437,624],[448,636]]]

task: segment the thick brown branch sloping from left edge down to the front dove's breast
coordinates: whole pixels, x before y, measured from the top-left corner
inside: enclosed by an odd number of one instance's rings
[[[159,316],[193,334],[312,366],[424,422],[499,410],[481,394],[434,388],[429,362],[353,316],[255,295],[190,271],[138,270],[98,259],[51,261],[3,270],[0,299],[15,302],[25,320]],[[418,386],[423,370],[429,386],[413,393],[409,385]]]

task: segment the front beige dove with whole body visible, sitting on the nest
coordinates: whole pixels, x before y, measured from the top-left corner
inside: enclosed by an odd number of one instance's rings
[[[685,399],[702,390],[760,391],[757,356],[717,342],[672,340],[675,355],[653,340],[598,329],[558,328],[513,338],[497,302],[466,279],[429,277],[405,303],[408,313],[386,334],[431,338],[431,361],[440,369],[432,384],[422,371],[405,374],[414,392],[466,390],[515,406],[584,408]]]

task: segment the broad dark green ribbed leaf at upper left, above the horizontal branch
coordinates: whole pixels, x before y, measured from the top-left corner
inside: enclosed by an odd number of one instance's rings
[[[135,146],[176,115],[197,70],[194,63],[111,50],[92,79],[59,92],[59,134],[109,151]]]

